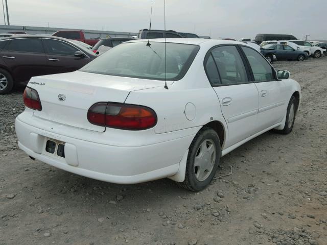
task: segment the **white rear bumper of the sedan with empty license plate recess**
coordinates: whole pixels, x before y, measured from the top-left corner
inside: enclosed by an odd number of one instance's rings
[[[173,176],[195,135],[142,146],[113,146],[67,137],[16,118],[18,146],[28,155],[71,173],[119,184]],[[45,151],[49,138],[65,142],[65,158]]]

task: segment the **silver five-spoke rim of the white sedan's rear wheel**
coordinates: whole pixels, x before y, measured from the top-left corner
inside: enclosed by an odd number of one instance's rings
[[[194,173],[198,181],[204,181],[211,174],[216,161],[216,145],[212,139],[205,139],[194,158]]]

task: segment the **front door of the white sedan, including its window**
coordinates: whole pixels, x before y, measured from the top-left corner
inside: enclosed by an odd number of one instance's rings
[[[285,82],[277,80],[272,66],[258,52],[241,46],[251,71],[251,80],[259,92],[258,132],[283,119],[287,91]]]

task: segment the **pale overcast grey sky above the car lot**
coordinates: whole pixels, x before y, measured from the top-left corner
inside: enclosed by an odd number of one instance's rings
[[[151,28],[164,29],[164,0],[7,2],[10,24],[123,32],[149,28],[153,3]],[[327,39],[326,9],[327,0],[166,0],[166,29],[216,39],[254,39],[258,33]]]

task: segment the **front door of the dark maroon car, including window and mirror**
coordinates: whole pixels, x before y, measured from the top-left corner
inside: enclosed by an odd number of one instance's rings
[[[79,50],[67,42],[50,38],[42,38],[42,41],[51,74],[75,71],[90,62],[86,55],[75,57],[75,52]]]

